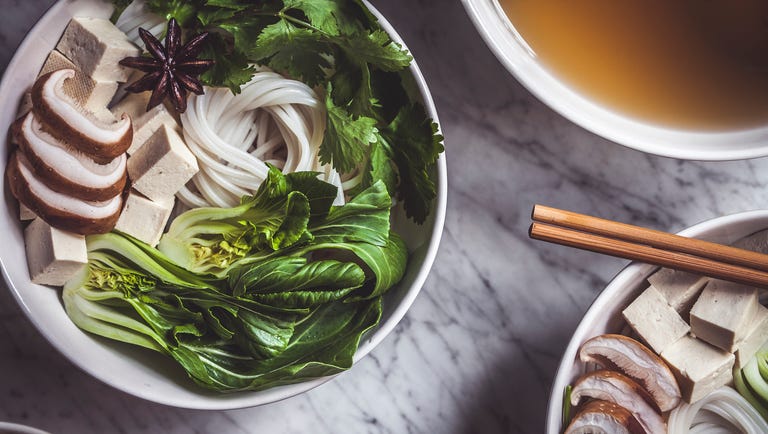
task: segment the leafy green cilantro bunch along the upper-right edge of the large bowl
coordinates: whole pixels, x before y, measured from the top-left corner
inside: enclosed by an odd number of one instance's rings
[[[119,4],[124,1],[113,0]],[[363,171],[362,191],[383,180],[406,214],[426,220],[436,196],[429,173],[443,138],[405,90],[413,60],[361,0],[147,0],[191,32],[208,31],[201,57],[216,65],[201,79],[234,93],[253,64],[325,91],[328,111],[320,161]]]

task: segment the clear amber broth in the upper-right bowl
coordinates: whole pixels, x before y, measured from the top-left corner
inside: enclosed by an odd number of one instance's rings
[[[499,0],[571,88],[663,126],[768,123],[768,0]]]

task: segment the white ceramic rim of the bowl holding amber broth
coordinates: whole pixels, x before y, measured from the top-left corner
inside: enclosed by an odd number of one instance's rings
[[[674,129],[636,121],[574,91],[542,66],[497,0],[462,2],[485,42],[518,81],[585,129],[621,145],[666,157],[735,160],[768,155],[768,119],[764,127],[722,132]]]

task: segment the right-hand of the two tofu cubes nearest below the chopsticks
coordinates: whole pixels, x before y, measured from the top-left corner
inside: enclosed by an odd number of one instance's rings
[[[713,279],[691,308],[691,333],[733,352],[746,337],[759,306],[756,288]]]

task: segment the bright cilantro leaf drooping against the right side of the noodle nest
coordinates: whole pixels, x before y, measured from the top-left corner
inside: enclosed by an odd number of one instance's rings
[[[354,170],[365,161],[368,146],[376,142],[376,120],[354,116],[333,102],[332,85],[328,85],[325,97],[327,113],[326,134],[320,146],[320,162],[333,163],[341,173]]]

